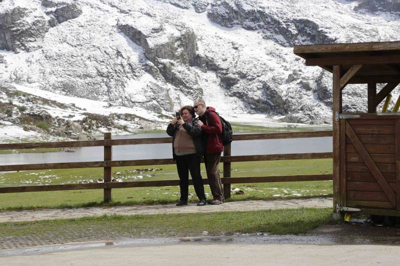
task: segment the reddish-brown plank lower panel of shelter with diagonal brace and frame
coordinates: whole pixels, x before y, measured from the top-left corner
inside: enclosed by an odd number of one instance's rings
[[[400,209],[399,126],[400,119],[382,116],[340,120],[342,205]]]

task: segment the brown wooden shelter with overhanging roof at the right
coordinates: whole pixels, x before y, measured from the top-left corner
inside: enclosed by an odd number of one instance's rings
[[[296,45],[307,66],[333,74],[333,208],[400,216],[400,113],[376,106],[400,82],[400,41]],[[376,84],[384,83],[377,92]],[[367,113],[342,113],[342,90],[359,85]]]

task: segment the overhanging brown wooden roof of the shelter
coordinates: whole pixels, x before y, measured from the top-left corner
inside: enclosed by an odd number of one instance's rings
[[[357,65],[348,83],[400,82],[400,41],[295,45],[293,52],[330,72],[333,65],[344,73]]]

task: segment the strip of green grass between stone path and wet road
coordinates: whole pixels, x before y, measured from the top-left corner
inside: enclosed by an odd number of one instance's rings
[[[195,207],[194,207],[195,208]],[[1,223],[3,239],[40,239],[54,241],[63,236],[74,236],[75,241],[87,234],[97,240],[121,237],[195,237],[231,236],[235,233],[257,232],[285,235],[305,234],[326,224],[331,219],[331,208],[283,209],[247,212],[157,214],[133,216],[100,216],[65,220],[45,220],[23,223]],[[90,232],[88,232],[90,231]]]

